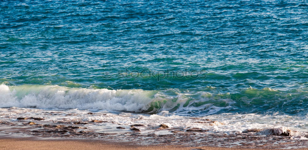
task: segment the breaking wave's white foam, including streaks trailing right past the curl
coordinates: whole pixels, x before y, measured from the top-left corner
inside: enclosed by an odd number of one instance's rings
[[[79,108],[103,109],[142,112],[170,110],[208,110],[208,114],[216,113],[225,107],[217,107],[212,103],[198,107],[183,106],[189,94],[177,93],[175,96],[164,95],[155,90],[108,90],[69,88],[51,85],[0,85],[0,107],[37,107],[37,108]],[[174,101],[176,100],[176,101]],[[201,98],[193,102],[206,101]],[[232,103],[230,99],[221,99]],[[155,106],[156,105],[156,106]],[[178,106],[179,105],[179,106]]]

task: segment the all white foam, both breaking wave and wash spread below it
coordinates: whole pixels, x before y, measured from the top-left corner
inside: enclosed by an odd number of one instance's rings
[[[166,92],[168,93],[168,92]],[[176,92],[175,92],[176,93]],[[146,127],[158,127],[166,124],[170,128],[188,129],[201,128],[212,133],[241,134],[247,129],[266,129],[286,126],[292,130],[299,131],[292,135],[293,139],[306,139],[306,120],[300,116],[289,116],[274,113],[273,115],[261,115],[256,113],[215,113],[226,107],[217,107],[212,103],[201,106],[190,106],[192,103],[207,102],[212,98],[209,93],[202,93],[199,99],[189,101],[187,107],[184,103],[189,99],[189,94],[176,93],[173,96],[164,95],[160,91],[150,90],[108,90],[108,89],[85,89],[68,88],[47,85],[22,85],[6,86],[0,85],[0,109],[2,120],[14,121],[17,117],[45,117],[47,121],[91,121],[103,120],[114,122],[112,125],[143,124]],[[174,102],[174,100],[176,100]],[[234,103],[229,98],[219,99],[225,103]],[[164,103],[157,109],[157,114],[134,114],[118,111],[140,112],[150,108],[152,103]],[[178,112],[169,112],[175,106]],[[37,108],[27,108],[27,107]],[[20,107],[20,108],[19,108]],[[228,106],[227,106],[228,107]],[[64,109],[59,109],[64,108]],[[88,109],[88,110],[83,110]],[[113,112],[115,110],[115,112]],[[208,110],[205,117],[180,116],[181,112],[191,110]],[[48,115],[46,111],[55,111],[55,115]],[[87,115],[89,111],[94,115]],[[215,114],[213,114],[215,113]],[[15,118],[15,119],[14,119]],[[202,123],[206,119],[219,121],[222,125],[209,125]],[[103,130],[101,124],[89,125],[89,128]],[[112,126],[112,128],[114,128]],[[107,130],[107,129],[106,129]],[[150,130],[148,130],[150,132]],[[105,132],[105,131],[104,131]],[[262,133],[259,133],[262,134]]]

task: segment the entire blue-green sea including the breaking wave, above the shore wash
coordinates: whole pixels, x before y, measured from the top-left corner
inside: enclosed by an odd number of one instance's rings
[[[307,10],[305,0],[1,1],[0,106],[306,116]]]

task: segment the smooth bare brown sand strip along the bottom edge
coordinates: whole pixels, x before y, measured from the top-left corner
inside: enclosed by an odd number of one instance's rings
[[[3,138],[3,137],[2,137]],[[181,145],[136,145],[103,140],[35,140],[32,138],[0,139],[1,150],[270,150],[264,148],[187,147]],[[298,150],[308,150],[302,148]]]

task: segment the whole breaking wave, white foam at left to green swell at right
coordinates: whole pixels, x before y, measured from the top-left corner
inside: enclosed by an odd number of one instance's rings
[[[195,91],[108,90],[69,88],[56,85],[0,85],[0,107],[79,108],[157,113],[169,110],[181,115],[225,112],[280,111],[303,113],[307,91],[282,92],[270,88],[247,88],[239,93],[210,94]]]

